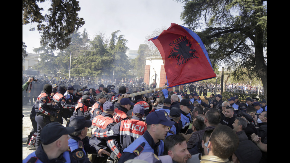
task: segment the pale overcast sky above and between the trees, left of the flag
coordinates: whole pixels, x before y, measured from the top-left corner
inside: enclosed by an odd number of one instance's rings
[[[40,6],[44,10],[50,7],[48,3]],[[180,19],[183,5],[173,0],[80,0],[80,7],[78,16],[84,18],[85,24],[79,32],[86,28],[92,39],[99,32],[110,37],[120,30],[118,35],[124,35],[127,47],[132,50],[138,50],[145,37],[156,29],[169,28],[171,23],[183,25]],[[26,51],[34,53],[33,48],[40,47],[40,34],[37,30],[29,31],[30,26],[22,25],[22,41]]]

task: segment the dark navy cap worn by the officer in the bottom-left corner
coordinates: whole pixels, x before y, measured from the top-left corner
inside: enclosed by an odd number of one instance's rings
[[[51,122],[43,127],[40,141],[42,144],[48,145],[62,137],[62,135],[68,135],[74,131],[74,127],[64,127],[59,122]]]

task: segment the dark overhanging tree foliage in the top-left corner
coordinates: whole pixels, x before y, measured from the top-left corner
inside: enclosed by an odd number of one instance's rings
[[[77,0],[50,0],[51,6],[43,15],[41,13],[43,8],[38,7],[38,4],[45,1],[22,1],[22,25],[38,23],[37,30],[41,33],[41,45],[63,50],[70,45],[70,34],[85,23],[83,18],[78,17],[79,2]],[[35,30],[35,28],[30,30]]]

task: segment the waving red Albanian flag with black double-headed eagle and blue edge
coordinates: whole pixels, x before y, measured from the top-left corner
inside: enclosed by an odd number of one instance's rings
[[[171,23],[148,41],[160,51],[169,87],[216,77],[204,44],[190,29]]]

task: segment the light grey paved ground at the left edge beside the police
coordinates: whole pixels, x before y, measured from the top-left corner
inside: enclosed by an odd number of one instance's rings
[[[32,129],[32,124],[30,121],[30,113],[31,113],[32,106],[24,105],[22,106],[22,114],[24,117],[22,118],[22,160],[25,159],[29,154],[34,152],[33,150],[27,148],[26,141],[28,139],[28,135]],[[63,126],[65,126],[67,122],[63,119]]]

